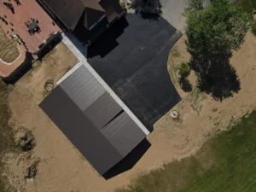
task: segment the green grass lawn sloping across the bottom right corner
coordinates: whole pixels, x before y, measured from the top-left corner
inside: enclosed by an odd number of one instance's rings
[[[256,111],[212,137],[194,156],[142,174],[116,192],[256,191],[255,138]]]

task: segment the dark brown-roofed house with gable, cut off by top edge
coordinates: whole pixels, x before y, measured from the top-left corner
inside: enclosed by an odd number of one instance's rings
[[[38,0],[61,25],[91,44],[115,20],[125,15],[119,0]]]

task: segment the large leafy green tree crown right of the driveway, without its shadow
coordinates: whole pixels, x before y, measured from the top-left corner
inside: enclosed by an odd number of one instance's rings
[[[250,27],[248,16],[241,7],[230,5],[229,0],[214,0],[205,9],[196,7],[201,8],[197,5],[185,11],[190,53],[209,57],[240,48]]]

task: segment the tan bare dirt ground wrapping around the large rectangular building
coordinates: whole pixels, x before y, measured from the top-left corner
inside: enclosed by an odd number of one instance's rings
[[[151,147],[142,159],[129,171],[109,180],[99,176],[90,164],[73,147],[61,131],[38,108],[44,98],[44,84],[47,79],[54,82],[61,77],[69,65],[76,62],[74,56],[59,44],[42,63],[27,73],[15,84],[10,93],[9,106],[12,112],[11,123],[24,126],[36,139],[32,156],[9,158],[10,181],[22,191],[27,192],[106,192],[128,184],[141,172],[148,172],[164,163],[179,160],[195,154],[201,144],[215,131],[224,129],[230,120],[240,118],[256,106],[256,38],[247,33],[246,42],[241,50],[234,53],[231,64],[236,68],[241,81],[241,90],[223,102],[212,100],[211,96],[193,91],[185,93],[179,88],[175,70],[181,61],[189,61],[185,50],[185,37],[177,43],[178,55],[170,54],[168,69],[177,91],[183,98],[172,110],[179,113],[179,120],[173,120],[166,113],[155,125],[148,136]],[[194,73],[189,80],[196,83]],[[9,154],[11,155],[11,154]],[[24,155],[24,154],[23,154]],[[20,159],[21,158],[21,159]],[[23,159],[22,159],[23,158]],[[22,165],[39,160],[38,172],[34,179],[25,180]]]

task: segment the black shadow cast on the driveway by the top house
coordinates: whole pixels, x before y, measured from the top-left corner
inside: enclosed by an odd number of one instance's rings
[[[129,23],[125,17],[116,21],[113,26],[110,26],[111,30],[108,29],[100,36],[100,38],[97,38],[94,44],[90,45],[87,57],[92,58],[96,55],[100,55],[103,58],[108,55],[108,53],[119,45],[116,39],[125,32],[127,26],[129,26]],[[101,44],[101,46],[98,46],[98,44]]]

